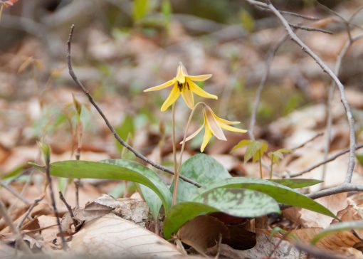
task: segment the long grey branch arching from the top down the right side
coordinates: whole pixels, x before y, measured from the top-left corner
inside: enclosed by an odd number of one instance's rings
[[[250,2],[251,0],[246,0]],[[288,21],[285,20],[285,18],[280,14],[280,12],[275,9],[275,6],[271,4],[271,2],[268,0],[268,8],[273,11],[273,13],[279,18],[281,23],[283,23],[283,26],[285,26],[286,31],[288,31],[288,34],[295,43],[297,43],[301,48],[302,51],[307,53],[315,62],[317,65],[322,68],[322,70],[327,73],[332,80],[335,81],[337,84],[337,87],[340,90],[340,100],[342,101],[342,104],[344,106],[347,120],[349,122],[349,162],[348,162],[348,169],[347,174],[344,180],[344,183],[350,183],[352,181],[352,175],[355,165],[355,132],[354,132],[354,117],[352,115],[352,111],[350,110],[349,103],[347,101],[347,97],[345,96],[344,92],[344,85],[340,82],[340,80],[337,78],[337,75],[332,72],[332,70],[319,58],[305,43],[303,43],[298,36],[293,32],[292,28],[289,26]]]

